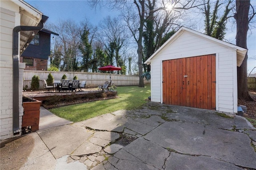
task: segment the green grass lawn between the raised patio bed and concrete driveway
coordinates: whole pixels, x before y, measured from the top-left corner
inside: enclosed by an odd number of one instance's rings
[[[117,87],[118,99],[93,101],[50,109],[58,117],[80,122],[92,117],[112,113],[118,110],[132,110],[142,106],[150,96],[150,84],[144,88],[137,86]]]

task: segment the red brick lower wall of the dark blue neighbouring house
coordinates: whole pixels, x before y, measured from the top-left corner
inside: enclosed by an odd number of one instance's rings
[[[33,66],[26,66],[25,70],[47,70],[48,60],[47,59],[39,59],[39,58],[32,58],[32,57],[26,57],[34,59]],[[20,62],[23,63],[23,57],[20,57]]]

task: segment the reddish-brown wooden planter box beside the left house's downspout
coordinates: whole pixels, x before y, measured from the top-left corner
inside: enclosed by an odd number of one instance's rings
[[[34,132],[39,129],[40,118],[40,101],[23,102],[24,115],[22,117],[22,127],[31,126],[31,131]]]

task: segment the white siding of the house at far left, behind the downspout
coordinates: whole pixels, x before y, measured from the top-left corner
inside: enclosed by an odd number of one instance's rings
[[[0,6],[0,140],[4,140],[14,137],[12,129],[12,30],[20,25],[20,14],[19,7],[11,1],[0,1]],[[24,64],[21,63],[20,67],[24,69]],[[20,96],[22,96],[23,69],[20,68]],[[23,115],[21,97],[19,107],[21,131]],[[16,136],[19,135],[21,133]]]

